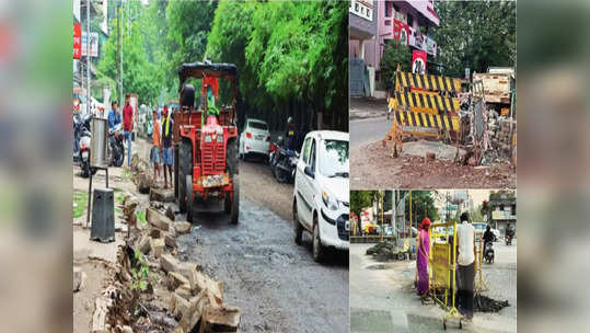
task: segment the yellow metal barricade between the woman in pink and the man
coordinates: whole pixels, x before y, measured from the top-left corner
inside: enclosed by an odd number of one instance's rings
[[[456,290],[456,222],[430,226],[430,295],[446,311],[442,326],[447,330],[449,319],[459,319],[462,329],[463,315],[455,307]],[[443,292],[442,292],[443,291]]]

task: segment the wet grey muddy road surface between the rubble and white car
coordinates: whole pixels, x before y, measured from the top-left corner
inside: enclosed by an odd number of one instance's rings
[[[223,302],[242,311],[242,332],[348,332],[348,252],[317,264],[309,234],[294,243],[292,191],[267,164],[241,162],[240,222],[200,213],[177,239],[178,259],[223,283]]]

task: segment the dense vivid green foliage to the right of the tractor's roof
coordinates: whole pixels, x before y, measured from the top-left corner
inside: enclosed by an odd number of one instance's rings
[[[344,126],[347,16],[339,1],[222,1],[207,56],[240,68],[240,91],[255,108],[287,107],[290,101]]]

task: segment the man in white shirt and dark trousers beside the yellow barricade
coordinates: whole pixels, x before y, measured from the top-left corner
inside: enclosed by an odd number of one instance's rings
[[[459,269],[459,307],[467,318],[473,318],[473,285],[475,279],[475,228],[470,223],[467,213],[461,214],[461,225],[456,227]]]

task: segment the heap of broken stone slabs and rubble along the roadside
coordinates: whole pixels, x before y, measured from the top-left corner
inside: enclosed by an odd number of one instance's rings
[[[162,195],[153,191],[150,199]],[[151,202],[148,225],[137,226],[138,203],[124,198],[132,232],[118,249],[115,277],[95,300],[92,332],[236,332],[240,309],[223,305],[222,283],[176,259],[176,237],[192,225],[176,221],[172,206]]]

